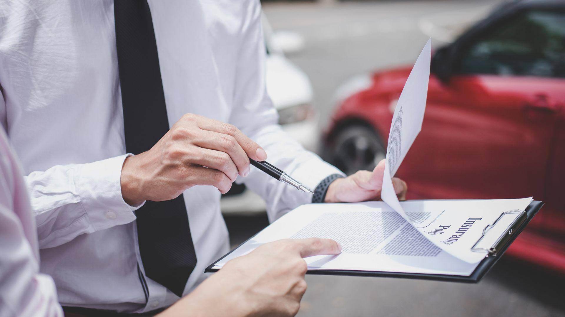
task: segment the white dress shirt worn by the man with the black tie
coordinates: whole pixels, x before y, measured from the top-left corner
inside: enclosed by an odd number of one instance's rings
[[[258,0],[149,1],[169,125],[196,113],[239,127],[268,161],[309,188],[340,173],[285,135],[264,83]],[[104,1],[0,4],[0,123],[23,161],[41,271],[63,306],[142,312],[177,296],[145,277],[134,221],[120,192],[127,156],[114,5]],[[251,168],[238,179],[267,201],[270,220],[311,195]],[[220,193],[184,192],[198,263],[185,294],[228,251]]]

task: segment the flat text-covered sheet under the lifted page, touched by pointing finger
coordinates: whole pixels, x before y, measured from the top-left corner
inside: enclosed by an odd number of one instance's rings
[[[373,201],[300,206],[216,263],[215,268],[259,245],[290,237],[327,237],[341,244],[342,253],[337,256],[306,258],[310,270],[470,275],[476,267],[476,263],[443,252],[384,202]]]

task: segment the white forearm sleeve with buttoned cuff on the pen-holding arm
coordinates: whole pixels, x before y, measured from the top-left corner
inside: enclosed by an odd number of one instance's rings
[[[121,168],[127,156],[57,165],[25,177],[40,248],[52,248],[81,234],[136,219],[133,212],[142,204],[130,206],[121,196]]]

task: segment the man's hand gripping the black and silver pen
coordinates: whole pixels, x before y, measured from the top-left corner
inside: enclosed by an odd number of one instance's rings
[[[186,114],[149,151],[130,156],[121,170],[124,201],[163,201],[195,185],[226,193],[237,175],[249,174],[249,157],[267,154],[235,126]]]

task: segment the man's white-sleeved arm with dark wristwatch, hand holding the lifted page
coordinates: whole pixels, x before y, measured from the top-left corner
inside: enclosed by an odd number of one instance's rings
[[[308,202],[355,202],[380,199],[384,162],[373,171],[358,171],[345,178],[344,174],[321,160],[291,139],[277,124],[278,116],[265,85],[266,50],[261,27],[260,3],[247,2],[248,12],[242,25],[240,50],[234,94],[234,109],[229,120],[243,133],[260,144],[269,162],[314,190],[314,197],[298,192],[277,180],[251,169],[249,177],[241,179],[251,190],[267,201],[271,221],[298,205]],[[406,183],[393,178],[400,199],[406,194]],[[318,187],[319,186],[319,187]],[[318,187],[316,190],[316,187]]]

